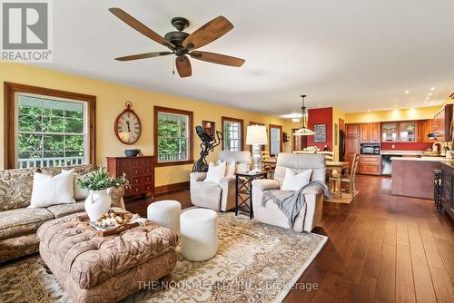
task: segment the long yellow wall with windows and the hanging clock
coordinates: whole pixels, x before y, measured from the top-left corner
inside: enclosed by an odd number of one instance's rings
[[[216,129],[222,130],[221,117],[229,116],[244,120],[244,128],[250,121],[279,124],[284,126],[284,120],[266,116],[256,112],[247,112],[212,103],[176,97],[165,93],[145,91],[121,84],[108,83],[100,80],[77,76],[70,73],[58,73],[40,67],[25,64],[0,63],[0,85],[3,92],[4,82],[23,83],[45,88],[86,93],[96,96],[96,162],[105,165],[107,156],[123,156],[123,151],[128,148],[141,149],[144,155],[153,154],[153,105],[166,106],[193,112],[194,126],[202,124],[202,120],[216,122]],[[176,84],[175,84],[176,85]],[[0,94],[0,106],[4,106],[4,94]],[[124,103],[131,101],[133,110],[139,115],[143,124],[143,132],[139,141],[133,146],[124,145],[114,135],[114,121],[116,116],[123,111]],[[4,117],[0,114],[0,168],[4,167]],[[287,132],[284,127],[284,132]],[[245,132],[244,132],[245,134]],[[195,131],[194,160],[199,155],[200,140]],[[290,146],[290,147],[289,147]],[[215,160],[218,147],[209,157]],[[249,146],[246,147],[249,150]],[[268,147],[267,147],[268,149]],[[284,151],[291,149],[291,143],[284,144]],[[177,165],[156,168],[155,185],[172,184],[189,180],[191,165]]]

